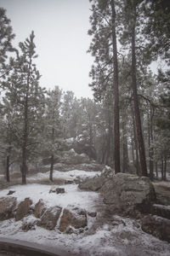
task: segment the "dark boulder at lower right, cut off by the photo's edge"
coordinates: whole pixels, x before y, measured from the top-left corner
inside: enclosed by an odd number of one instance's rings
[[[152,236],[170,242],[170,220],[167,218],[147,215],[141,220],[141,228]]]

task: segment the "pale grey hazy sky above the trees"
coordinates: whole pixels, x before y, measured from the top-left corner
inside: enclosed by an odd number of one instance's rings
[[[92,97],[88,0],[0,0],[0,6],[7,9],[15,46],[35,32],[42,87],[59,85],[78,97]]]

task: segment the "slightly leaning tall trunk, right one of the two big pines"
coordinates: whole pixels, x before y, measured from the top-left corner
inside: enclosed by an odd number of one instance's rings
[[[135,9],[134,9],[135,11]],[[136,11],[135,11],[136,13]],[[135,19],[135,18],[133,18]],[[135,22],[133,20],[131,37],[132,37],[132,87],[133,87],[133,104],[134,104],[134,118],[136,124],[136,133],[137,133],[137,140],[138,140],[138,148],[139,148],[139,161],[141,167],[141,174],[142,176],[147,176],[147,167],[146,167],[146,160],[145,160],[145,150],[144,150],[144,139],[142,134],[142,127],[141,127],[141,119],[139,113],[139,100],[138,100],[138,93],[137,93],[137,79],[136,79],[136,52],[135,52]]]

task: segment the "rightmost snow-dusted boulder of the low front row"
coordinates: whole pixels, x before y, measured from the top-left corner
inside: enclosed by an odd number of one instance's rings
[[[69,233],[68,230],[71,230],[71,227],[80,229],[86,227],[87,224],[87,212],[84,209],[69,207],[64,209],[60,218],[59,231]]]

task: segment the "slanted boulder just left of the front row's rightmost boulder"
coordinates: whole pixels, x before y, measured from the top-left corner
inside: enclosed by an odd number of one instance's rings
[[[53,230],[59,219],[61,213],[61,207],[50,207],[42,215],[38,225],[47,230]]]

